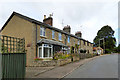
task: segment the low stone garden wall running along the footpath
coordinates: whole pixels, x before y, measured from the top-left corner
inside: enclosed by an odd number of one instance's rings
[[[76,56],[73,56],[72,58],[66,58],[66,59],[58,59],[58,60],[34,60],[33,64],[30,65],[31,67],[48,67],[48,66],[62,66],[74,61],[79,61],[81,59],[85,58],[92,58],[95,55],[91,54],[77,54]]]

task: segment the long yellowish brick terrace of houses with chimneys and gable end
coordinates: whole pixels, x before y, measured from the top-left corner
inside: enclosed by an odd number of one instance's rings
[[[69,25],[63,30],[53,27],[53,18],[44,16],[43,22],[13,12],[1,29],[2,35],[25,38],[27,66],[34,58],[52,58],[57,51],[70,53],[70,47],[79,45],[79,50],[93,53],[93,44],[82,38],[80,31],[71,34]]]

